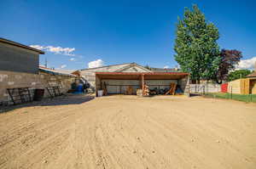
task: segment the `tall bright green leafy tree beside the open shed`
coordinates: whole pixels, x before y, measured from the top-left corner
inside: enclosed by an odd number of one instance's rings
[[[218,29],[193,5],[185,8],[183,20],[178,18],[174,50],[175,59],[192,80],[211,79],[220,62]]]

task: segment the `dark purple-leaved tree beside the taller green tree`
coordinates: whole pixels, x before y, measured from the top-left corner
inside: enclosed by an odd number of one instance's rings
[[[213,77],[219,84],[228,79],[230,70],[235,70],[236,65],[242,57],[242,54],[238,50],[222,49],[220,52],[220,57],[221,61],[218,65],[216,76]]]

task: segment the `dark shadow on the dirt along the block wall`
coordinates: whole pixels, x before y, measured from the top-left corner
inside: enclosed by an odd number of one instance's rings
[[[0,107],[0,113],[5,113],[10,110],[15,110],[23,107],[32,106],[55,106],[55,105],[68,105],[68,104],[84,104],[90,100],[95,99],[93,94],[68,94],[65,96],[55,97],[53,99],[43,99],[41,101],[33,101],[26,104],[17,104]]]

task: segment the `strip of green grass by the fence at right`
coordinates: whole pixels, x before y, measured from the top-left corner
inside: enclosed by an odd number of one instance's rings
[[[206,93],[205,96],[209,98],[234,99],[242,102],[256,103],[256,94]]]

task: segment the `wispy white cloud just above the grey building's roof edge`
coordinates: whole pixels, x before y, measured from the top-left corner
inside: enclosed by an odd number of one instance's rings
[[[67,56],[75,56],[73,52],[75,48],[61,48],[61,47],[53,47],[53,46],[40,46],[40,45],[30,45],[31,48],[37,48],[39,50],[46,50],[48,52],[54,54],[63,54]]]

